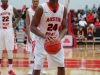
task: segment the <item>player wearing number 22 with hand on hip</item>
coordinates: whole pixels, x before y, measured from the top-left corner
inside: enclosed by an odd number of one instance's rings
[[[15,27],[20,20],[20,15],[17,10],[8,5],[8,0],[1,0],[2,5],[0,5],[0,66],[2,59],[3,50],[7,50],[8,53],[8,63],[10,75],[15,75],[12,70],[13,62],[13,50],[14,50],[14,31]],[[12,23],[13,15],[16,15],[17,20]]]

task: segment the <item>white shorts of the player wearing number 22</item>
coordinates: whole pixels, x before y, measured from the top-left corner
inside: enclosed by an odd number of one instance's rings
[[[0,29],[0,50],[14,50],[13,28]]]

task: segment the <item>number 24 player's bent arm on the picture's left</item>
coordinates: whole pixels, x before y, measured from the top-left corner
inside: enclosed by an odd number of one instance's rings
[[[43,34],[40,30],[37,29],[42,14],[43,14],[43,8],[42,8],[42,6],[38,6],[36,11],[35,11],[35,14],[34,14],[31,26],[30,26],[30,30],[35,35],[37,35],[37,36],[39,36],[39,37],[41,37],[43,39],[46,39],[46,35]]]

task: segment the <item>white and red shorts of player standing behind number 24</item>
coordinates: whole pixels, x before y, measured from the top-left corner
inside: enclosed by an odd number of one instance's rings
[[[35,39],[34,39],[34,34],[32,32],[30,32],[30,37],[32,39],[32,43],[29,43],[28,39],[27,39],[27,43],[26,43],[26,51],[32,52],[34,50],[35,47]]]

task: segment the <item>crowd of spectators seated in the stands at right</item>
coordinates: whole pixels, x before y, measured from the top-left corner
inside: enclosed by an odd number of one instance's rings
[[[73,11],[72,13],[72,27],[77,29],[77,35],[81,31],[82,38],[84,32],[88,32],[89,29],[93,29],[93,37],[96,29],[100,28],[100,5],[98,7],[93,4],[93,7],[89,8],[88,5],[85,6],[85,9],[79,9],[77,12]],[[90,32],[89,32],[90,33]],[[88,33],[87,33],[88,34]],[[80,36],[78,36],[80,37]]]

